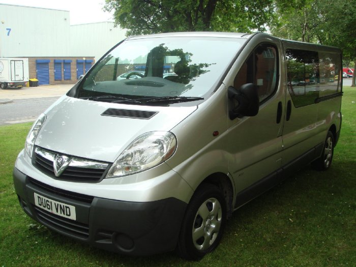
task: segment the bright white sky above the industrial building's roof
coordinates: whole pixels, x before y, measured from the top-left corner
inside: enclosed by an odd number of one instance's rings
[[[67,10],[71,25],[113,21],[112,14],[103,11],[105,0],[0,0],[0,4]]]

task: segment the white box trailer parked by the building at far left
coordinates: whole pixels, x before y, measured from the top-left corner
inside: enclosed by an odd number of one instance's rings
[[[28,58],[0,57],[0,87],[21,88],[28,82]]]

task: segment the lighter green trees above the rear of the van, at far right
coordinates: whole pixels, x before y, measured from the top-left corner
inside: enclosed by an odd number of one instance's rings
[[[356,60],[356,5],[342,0],[296,0],[293,6],[289,3],[276,2],[273,35],[337,46],[344,58]],[[353,75],[351,86],[355,86],[355,78]]]

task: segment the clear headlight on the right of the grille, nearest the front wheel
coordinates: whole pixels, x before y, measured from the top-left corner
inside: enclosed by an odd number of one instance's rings
[[[118,156],[106,178],[130,175],[153,168],[173,155],[176,144],[176,138],[170,132],[142,134]]]

